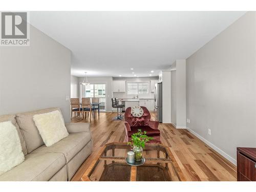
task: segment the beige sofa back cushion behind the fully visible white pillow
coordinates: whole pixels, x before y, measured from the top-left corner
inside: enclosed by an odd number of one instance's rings
[[[20,128],[20,132],[22,132],[22,135],[25,139],[28,153],[31,153],[33,150],[44,144],[44,141],[42,141],[42,138],[33,121],[33,116],[36,114],[49,113],[56,110],[59,109],[48,108],[44,110],[16,114],[16,121]]]

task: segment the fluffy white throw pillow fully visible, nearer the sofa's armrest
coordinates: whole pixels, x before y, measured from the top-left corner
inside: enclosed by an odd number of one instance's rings
[[[46,146],[51,146],[69,135],[59,111],[34,115],[33,120]]]

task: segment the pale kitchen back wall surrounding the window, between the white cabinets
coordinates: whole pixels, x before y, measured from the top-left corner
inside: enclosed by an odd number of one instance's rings
[[[154,99],[154,93],[151,92],[151,84],[150,84],[150,80],[153,79],[158,79],[158,77],[114,77],[113,80],[125,80],[126,81],[126,88],[127,88],[127,82],[148,82],[148,86],[149,86],[149,92],[148,94],[140,94],[139,98],[142,99]],[[136,95],[127,95],[127,89],[125,93],[113,93],[113,97],[117,97],[120,99],[130,99],[130,98],[134,98],[134,96],[136,97]]]

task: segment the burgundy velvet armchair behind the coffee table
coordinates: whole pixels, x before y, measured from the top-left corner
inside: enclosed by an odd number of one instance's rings
[[[141,117],[134,117],[131,114],[131,108],[127,108],[124,112],[125,119],[125,139],[126,141],[131,140],[131,136],[134,133],[137,133],[140,129],[142,132],[146,131],[146,135],[149,137],[153,137],[154,140],[149,141],[150,143],[161,143],[160,141],[160,131],[158,130],[158,121],[151,121],[150,112],[145,108],[145,106],[141,106],[144,114]]]

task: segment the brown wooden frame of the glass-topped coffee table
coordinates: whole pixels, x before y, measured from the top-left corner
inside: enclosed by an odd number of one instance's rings
[[[106,160],[112,160],[112,161],[122,161],[125,162],[125,157],[115,157],[115,148],[119,149],[127,149],[127,143],[120,143],[120,142],[112,142],[105,144],[100,151],[98,152],[97,156],[94,158],[86,172],[81,177],[81,181],[91,181],[89,176],[94,171],[94,168],[97,166],[98,162],[100,160],[104,160],[104,163],[106,163]],[[106,156],[106,151],[112,150],[112,156]],[[146,158],[146,161],[150,162],[157,162],[157,163],[165,163],[165,167],[167,167],[168,163],[172,163],[174,170],[179,178],[180,181],[186,181],[183,173],[181,172],[181,169],[174,158],[172,152],[170,152],[169,147],[164,146],[162,144],[158,143],[146,143],[145,150],[156,150],[158,158]],[[162,151],[165,153],[165,158],[160,158],[159,153]],[[150,165],[150,164],[148,164]],[[131,166],[131,178],[130,181],[136,181],[136,175],[137,175],[137,167]]]

